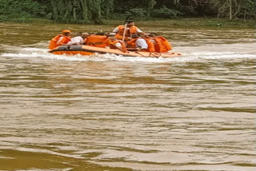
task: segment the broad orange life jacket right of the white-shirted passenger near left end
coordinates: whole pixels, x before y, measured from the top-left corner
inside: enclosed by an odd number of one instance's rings
[[[95,35],[91,34],[86,38],[87,46],[95,46],[95,47],[106,47],[107,36],[106,35]]]

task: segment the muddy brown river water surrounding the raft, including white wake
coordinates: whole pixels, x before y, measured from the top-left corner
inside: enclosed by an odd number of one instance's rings
[[[256,170],[255,30],[139,27],[182,57],[53,55],[114,26],[0,23],[0,170]]]

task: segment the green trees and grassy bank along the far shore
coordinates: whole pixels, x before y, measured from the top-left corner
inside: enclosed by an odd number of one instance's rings
[[[140,22],[164,20],[171,26],[246,28],[255,26],[256,1],[2,0],[0,3],[0,22],[108,24],[123,22],[129,16]]]

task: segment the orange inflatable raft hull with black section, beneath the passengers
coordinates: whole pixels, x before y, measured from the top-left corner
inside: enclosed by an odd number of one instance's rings
[[[102,47],[94,46],[58,46],[54,50],[49,51],[52,54],[67,54],[67,55],[92,55],[92,54],[116,54],[127,57],[145,57],[145,58],[173,58],[181,56],[182,54],[176,52],[140,52],[140,51],[127,51],[122,52],[121,50],[107,49]]]

